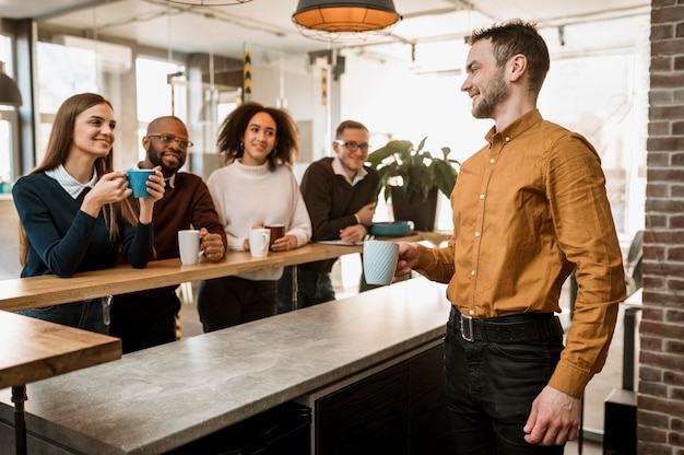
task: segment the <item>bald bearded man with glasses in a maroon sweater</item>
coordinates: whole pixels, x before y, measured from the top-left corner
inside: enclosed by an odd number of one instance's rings
[[[148,151],[140,168],[162,166],[166,180],[164,198],[156,202],[152,219],[156,259],[179,257],[178,231],[200,230],[201,248],[209,260],[221,260],[227,247],[223,224],[214,201],[199,176],[178,172],[186,162],[188,129],[177,117],[160,117],[150,122],[142,138]],[[180,300],[177,287],[116,295],[111,302],[109,334],[121,338],[125,353],[176,340],[176,316]]]

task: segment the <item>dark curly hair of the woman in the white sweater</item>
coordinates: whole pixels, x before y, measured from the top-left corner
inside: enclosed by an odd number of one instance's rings
[[[219,127],[216,148],[223,155],[224,164],[243,158],[245,154],[243,138],[255,115],[266,113],[275,121],[276,147],[267,158],[269,168],[273,171],[280,163],[292,166],[299,155],[299,136],[297,124],[290,114],[275,107],[266,107],[259,103],[245,103],[235,108]]]

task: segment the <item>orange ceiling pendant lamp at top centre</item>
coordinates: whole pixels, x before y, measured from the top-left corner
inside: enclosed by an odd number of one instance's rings
[[[299,0],[292,20],[304,36],[344,40],[389,35],[401,15],[392,0]]]

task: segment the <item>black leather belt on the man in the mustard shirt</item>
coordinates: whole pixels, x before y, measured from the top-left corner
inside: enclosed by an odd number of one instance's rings
[[[452,306],[449,323],[461,332],[464,340],[471,342],[524,342],[563,335],[561,319],[551,313],[475,319],[462,315]]]

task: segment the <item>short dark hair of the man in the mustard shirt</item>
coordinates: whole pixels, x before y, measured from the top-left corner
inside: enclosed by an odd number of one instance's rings
[[[473,32],[469,38],[470,45],[482,39],[491,39],[494,47],[496,65],[500,68],[515,55],[522,54],[528,59],[530,92],[534,97],[542,90],[542,84],[551,67],[549,48],[544,38],[532,23],[515,19],[490,28]]]

